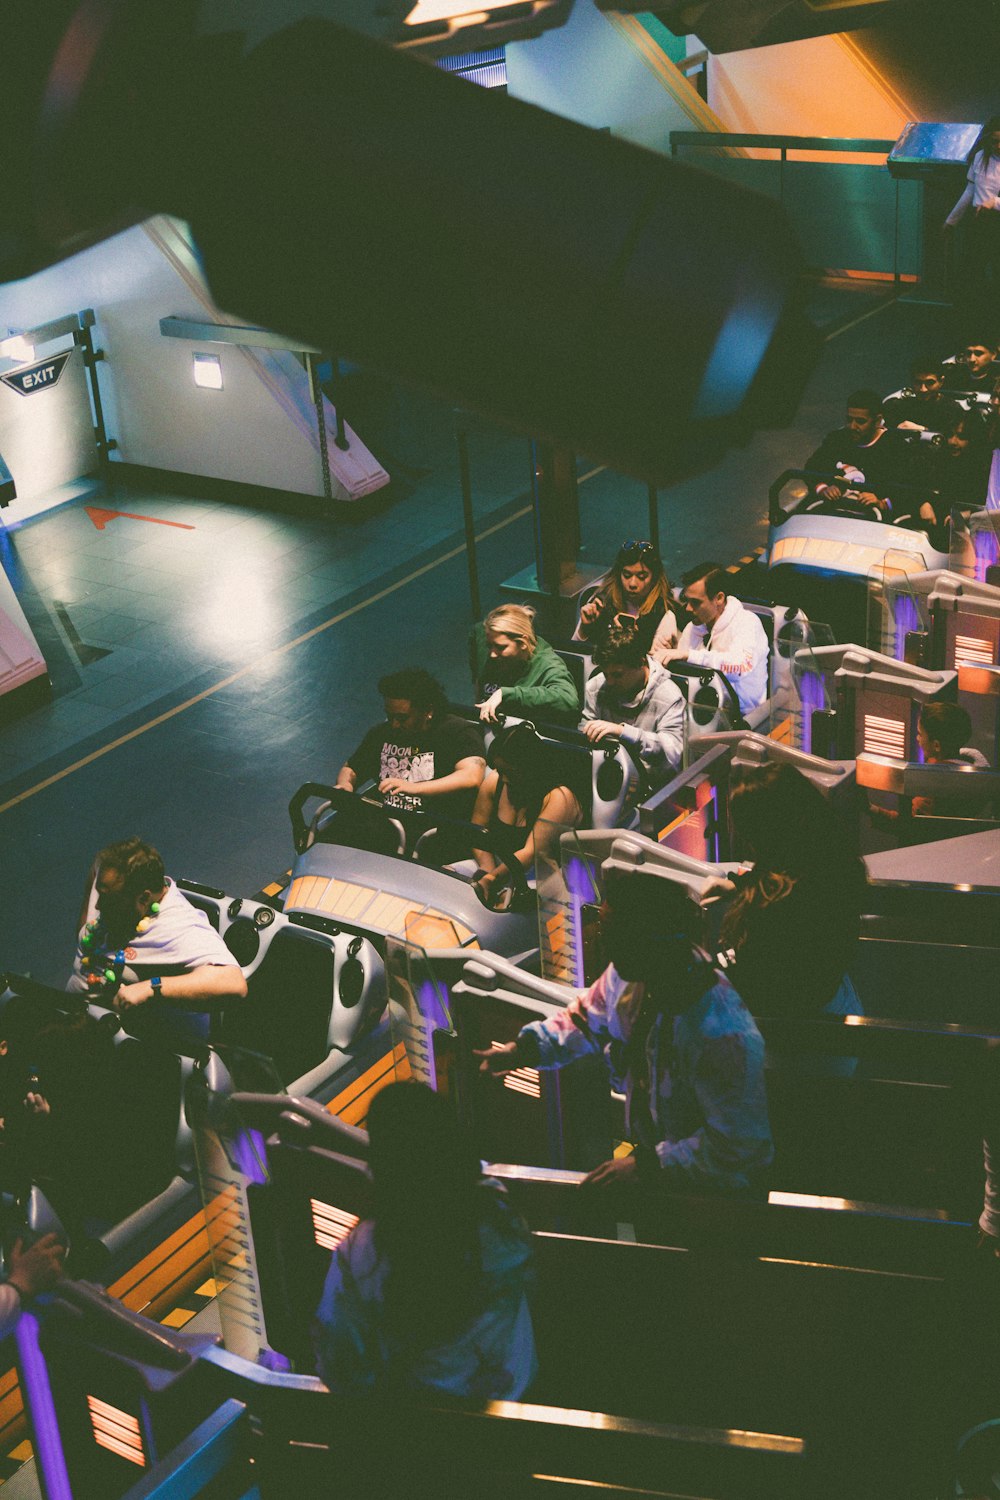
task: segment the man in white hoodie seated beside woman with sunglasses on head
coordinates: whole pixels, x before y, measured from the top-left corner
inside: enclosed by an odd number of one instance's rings
[[[667,651],[661,660],[717,668],[733,684],[741,711],[748,714],[768,696],[769,648],[760,620],[726,591],[727,576],[718,562],[699,562],[681,582],[688,624],[676,651]]]

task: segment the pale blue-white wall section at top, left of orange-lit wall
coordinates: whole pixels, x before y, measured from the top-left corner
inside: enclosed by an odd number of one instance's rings
[[[666,54],[657,58],[657,51],[649,42],[649,57],[670,68]],[[663,74],[592,0],[576,0],[570,20],[558,30],[508,45],[507,87],[552,114],[598,129],[610,126],[615,135],[658,152],[667,150],[670,130],[696,128],[691,112],[664,87]],[[700,105],[694,90],[691,98]]]

